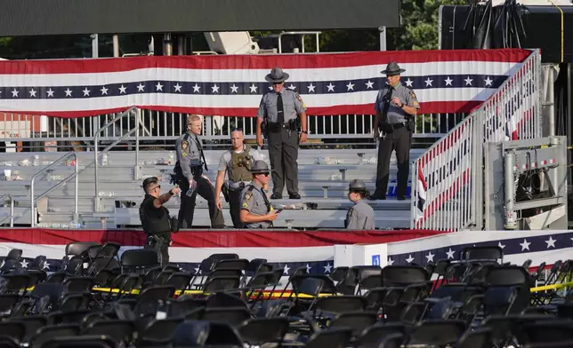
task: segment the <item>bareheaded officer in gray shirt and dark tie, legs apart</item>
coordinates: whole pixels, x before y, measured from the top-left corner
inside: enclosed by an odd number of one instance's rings
[[[175,143],[177,162],[175,163],[175,178],[182,190],[182,204],[179,210],[179,223],[182,228],[193,225],[195,200],[197,194],[205,198],[209,204],[209,217],[213,228],[225,226],[222,211],[215,205],[214,186],[209,178],[203,174],[207,170],[203,146],[198,135],[201,134],[203,121],[198,115],[187,117],[188,130],[177,138]]]

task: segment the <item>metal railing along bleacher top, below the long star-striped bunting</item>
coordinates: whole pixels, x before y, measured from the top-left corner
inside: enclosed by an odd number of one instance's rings
[[[140,141],[172,142],[185,129],[186,114],[141,109],[140,126],[143,129]],[[240,128],[245,138],[255,138],[254,117],[204,115],[203,138],[206,142],[228,140],[230,130]],[[372,140],[370,135],[374,115],[308,115],[308,138],[336,144]],[[427,114],[417,119],[414,138],[418,142],[432,144],[444,137],[466,114]],[[103,141],[112,142],[118,138],[133,141],[135,118],[132,114],[109,114],[77,118],[48,117],[40,115],[5,114],[4,129],[0,139],[5,141],[30,142],[34,151],[49,147],[69,147],[77,150],[91,148],[97,135]],[[99,131],[99,133],[98,133]],[[60,143],[60,145],[58,145]],[[0,142],[0,146],[2,146]],[[375,141],[369,141],[375,147]],[[14,146],[14,145],[12,145]],[[20,146],[20,145],[17,145]],[[21,145],[26,146],[26,145]]]

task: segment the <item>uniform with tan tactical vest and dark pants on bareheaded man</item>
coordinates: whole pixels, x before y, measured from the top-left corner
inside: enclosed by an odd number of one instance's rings
[[[262,154],[251,148],[243,146],[241,152],[236,152],[230,148],[222,154],[219,160],[219,171],[226,171],[229,180],[223,186],[222,192],[229,202],[230,218],[233,220],[235,228],[243,228],[243,223],[239,217],[240,200],[242,190],[251,184],[251,163],[262,161]],[[226,192],[226,194],[225,194]]]

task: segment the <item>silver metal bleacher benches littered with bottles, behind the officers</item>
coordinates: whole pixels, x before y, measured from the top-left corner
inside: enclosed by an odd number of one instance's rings
[[[214,183],[217,164],[224,150],[206,151],[208,178]],[[423,150],[412,150],[414,161]],[[268,153],[263,150],[268,162]],[[0,208],[0,222],[10,224],[11,204],[14,201],[13,225],[31,224],[30,180],[40,170],[57,160],[63,153],[4,153],[0,154],[0,196],[4,194],[4,207]],[[85,228],[117,228],[140,226],[138,207],[143,197],[142,178],[162,177],[162,192],[170,186],[168,174],[173,164],[168,164],[169,151],[140,151],[139,170],[136,169],[134,151],[109,152],[108,164],[99,167],[98,182],[100,209],[96,209],[93,152],[77,152],[78,166],[78,220],[74,220],[75,183],[69,180],[56,187],[36,202],[36,225],[44,227],[70,227],[77,223]],[[351,202],[346,197],[348,182],[354,178],[366,181],[371,191],[375,188],[375,149],[301,150],[299,153],[299,188],[301,200],[273,200],[274,207],[284,208],[274,225],[277,228],[317,229],[340,228]],[[39,156],[34,163],[34,155]],[[165,164],[158,164],[165,162]],[[33,164],[38,164],[37,166]],[[68,165],[67,165],[68,164]],[[395,158],[391,164],[389,198],[369,204],[375,209],[376,227],[384,229],[409,228],[409,200],[397,201],[392,192],[396,177]],[[9,172],[11,179],[4,174]],[[62,162],[37,176],[35,198],[52,188],[74,172],[69,163]],[[136,174],[136,170],[139,174]],[[272,186],[272,183],[270,183]],[[286,194],[285,194],[286,195]],[[179,197],[166,204],[172,215],[179,210]],[[232,225],[228,205],[222,200],[226,225]],[[208,228],[210,225],[206,201],[198,196],[193,225]]]

